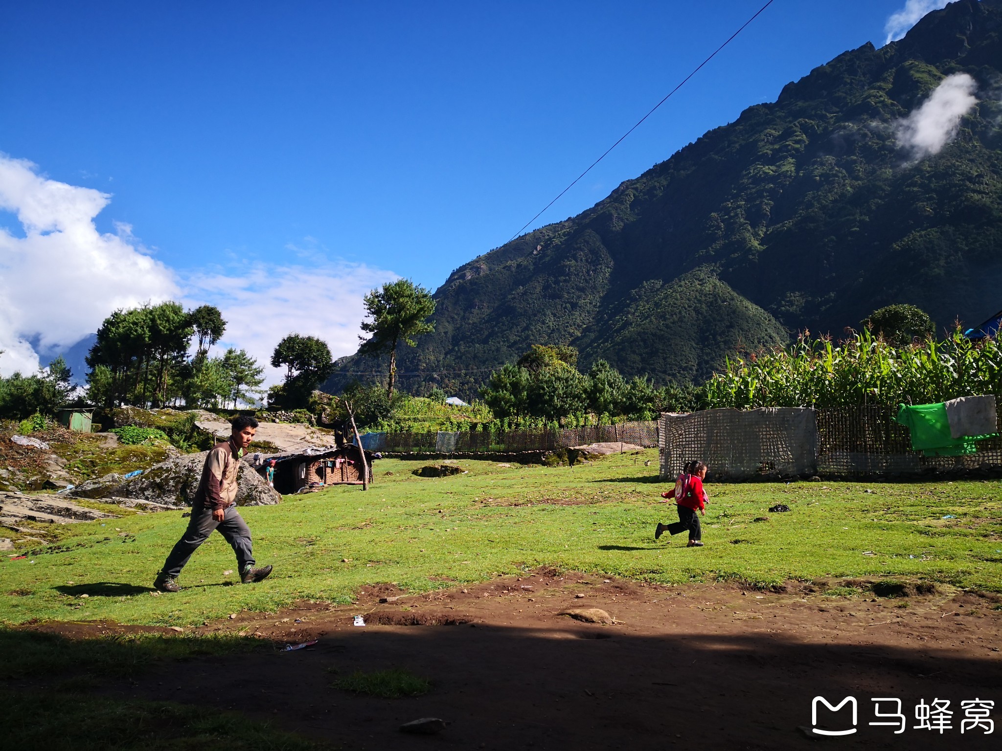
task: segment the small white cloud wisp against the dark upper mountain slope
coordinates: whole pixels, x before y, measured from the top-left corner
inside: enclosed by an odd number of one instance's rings
[[[977,84],[967,73],[944,78],[928,99],[894,124],[898,144],[913,159],[938,154],[957,137],[960,119],[977,104],[975,90]]]

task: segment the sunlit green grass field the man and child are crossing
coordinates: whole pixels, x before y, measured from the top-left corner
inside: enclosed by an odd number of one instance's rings
[[[255,586],[224,574],[235,562],[215,535],[182,592],[152,596],[180,512],[66,525],[57,544],[0,563],[0,622],[199,625],[297,600],[348,603],[368,584],[423,592],[540,565],[661,583],[876,575],[1002,591],[997,481],[707,485],[706,545],[687,549],[682,535],[653,540],[656,522],[676,519],[658,503],[667,486],[655,450],[573,468],[460,461],[468,474],[445,479],[414,477],[422,464],[378,462],[368,493],[332,488],[242,509],[259,563],[276,567]],[[792,511],[767,511],[780,503]]]

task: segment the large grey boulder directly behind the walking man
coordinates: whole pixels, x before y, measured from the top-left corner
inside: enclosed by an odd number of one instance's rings
[[[100,480],[81,483],[66,495],[103,500],[107,503],[116,503],[116,499],[128,498],[152,501],[175,508],[190,506],[198,489],[206,456],[208,452],[168,459],[166,462],[153,465],[134,478],[105,475]],[[236,482],[237,506],[272,506],[282,500],[282,496],[270,488],[265,479],[245,462],[240,462]]]

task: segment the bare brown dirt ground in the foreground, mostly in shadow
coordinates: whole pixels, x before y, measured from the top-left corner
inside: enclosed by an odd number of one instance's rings
[[[345,749],[997,748],[996,734],[960,732],[964,700],[994,700],[993,719],[1002,719],[997,595],[942,588],[906,599],[843,599],[793,583],[760,592],[550,571],[379,602],[400,594],[372,587],[351,606],[236,614],[197,631],[319,642],[164,665],[105,690],[208,702]],[[568,608],[600,608],[616,623],[557,615]],[[352,625],[358,614],[365,628]],[[339,675],[390,667],[430,679],[431,692],[385,700],[331,687]],[[799,726],[811,726],[818,695],[833,704],[856,697],[858,732],[806,737]],[[904,733],[869,726],[874,697],[903,700]],[[937,698],[951,702],[952,729],[913,729],[915,705]],[[446,730],[432,737],[398,730],[429,716],[446,720]],[[851,727],[848,718],[842,724]],[[836,727],[819,723],[826,725]]]

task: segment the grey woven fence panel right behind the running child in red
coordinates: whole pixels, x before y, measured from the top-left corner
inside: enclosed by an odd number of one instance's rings
[[[661,418],[661,478],[699,460],[715,481],[785,478],[817,471],[818,428],[807,408],[706,410]]]

